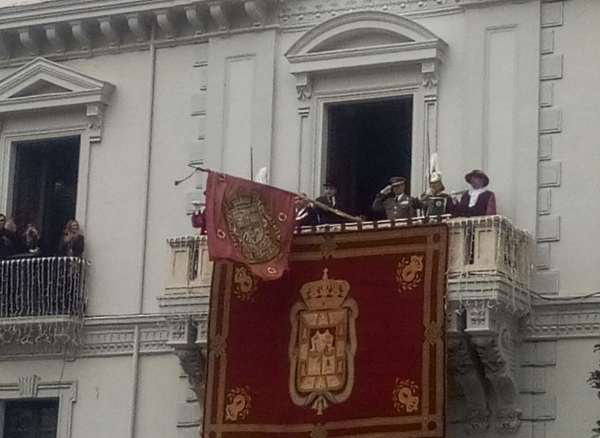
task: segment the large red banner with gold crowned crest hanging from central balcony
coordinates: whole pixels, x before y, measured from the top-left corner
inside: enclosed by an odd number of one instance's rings
[[[297,236],[262,281],[217,263],[206,438],[442,437],[445,225]]]

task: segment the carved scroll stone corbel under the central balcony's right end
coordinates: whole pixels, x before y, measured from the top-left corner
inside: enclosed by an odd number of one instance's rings
[[[511,315],[502,306],[488,304],[483,301],[468,308],[465,333],[470,335],[485,377],[493,387],[496,429],[500,433],[515,433],[523,413],[515,405],[518,315]]]

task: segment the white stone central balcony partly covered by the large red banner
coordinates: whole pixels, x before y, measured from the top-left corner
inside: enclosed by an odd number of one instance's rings
[[[412,224],[427,222],[415,218]],[[469,434],[496,429],[515,433],[519,326],[530,311],[532,240],[502,216],[447,219],[449,228],[448,377],[460,388],[449,394],[449,423]],[[406,221],[304,227],[299,233],[406,226]],[[161,308],[170,312],[171,340],[183,351],[205,340],[212,264],[205,236],[169,239],[168,281]],[[180,314],[182,319],[177,320]],[[196,317],[202,323],[198,324]],[[191,323],[190,323],[191,321]],[[196,322],[194,322],[196,321]]]

